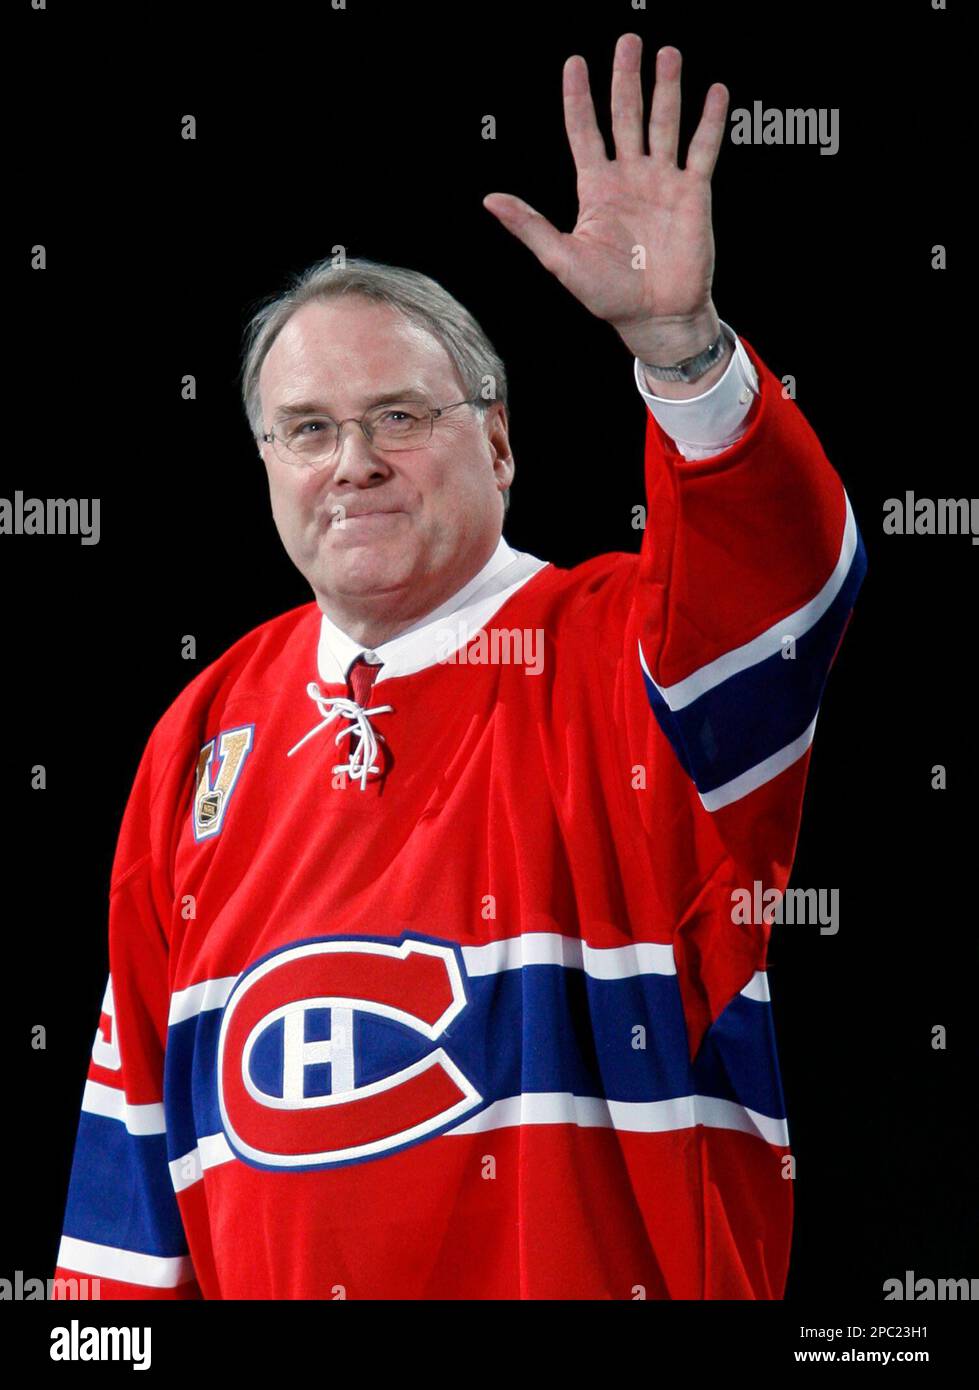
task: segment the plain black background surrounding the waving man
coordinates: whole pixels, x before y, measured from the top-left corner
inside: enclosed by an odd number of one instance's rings
[[[588,60],[610,150],[612,51],[627,31],[644,36],[647,93],[656,47],[683,53],[681,157],[713,81],[731,108],[840,110],[837,154],[726,142],[713,178],[718,311],[795,378],[869,552],[791,880],[840,890],[840,931],[776,929],[770,952],[798,1161],[787,1300],[894,1312],[887,1277],[976,1273],[979,556],[966,537],[882,532],[886,498],[975,491],[953,229],[958,22],[928,0],[647,13],[350,0],[21,15],[14,67],[31,97],[13,260],[26,267],[42,243],[47,270],[17,272],[1,491],[99,496],[102,539],[0,538],[6,1277],[53,1270],[106,981],[108,870],[146,738],[204,664],[310,599],[241,409],[249,307],[335,245],[434,275],[508,366],[510,545],[560,566],[638,549],[631,359],[481,206],[513,192],[573,227],[562,64]],[[195,142],[181,139],[188,113]],[[488,113],[495,140],[481,138]],[[950,247],[944,272],[934,243]],[[179,395],[188,373],[195,402]],[[29,788],[35,763],[43,792]],[[936,763],[947,791],[930,788]],[[932,1048],[936,1024],[946,1051]]]

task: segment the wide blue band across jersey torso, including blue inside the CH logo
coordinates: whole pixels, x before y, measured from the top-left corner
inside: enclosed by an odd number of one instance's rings
[[[702,1094],[784,1119],[768,1002],[738,998],[690,1066],[676,976],[599,980],[560,965],[527,965],[466,980],[469,1005],[435,1042],[403,1024],[362,1015],[355,1023],[355,1086],[389,1076],[441,1047],[485,1104],[528,1091],[610,1101],[665,1101]],[[328,1011],[312,1011],[323,1012]],[[191,1152],[197,1136],[221,1133],[217,1042],[221,1009],[170,1027],[167,1141],[170,1158]],[[328,1020],[307,1019],[306,1038],[328,1037]],[[708,1066],[708,1056],[719,1058]],[[730,1065],[727,1065],[730,1061]],[[270,1027],[252,1054],[252,1076],[277,1094],[281,1036]],[[328,1066],[307,1069],[306,1095],[330,1093]]]

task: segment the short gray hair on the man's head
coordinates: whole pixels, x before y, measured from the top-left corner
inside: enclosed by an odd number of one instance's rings
[[[268,349],[298,309],[312,300],[337,295],[362,295],[391,304],[417,328],[435,338],[448,353],[467,396],[478,398],[476,409],[485,411],[495,402],[506,404],[506,368],[495,348],[470,311],[438,281],[417,270],[387,265],[364,257],[327,257],[293,275],[289,288],[259,303],[245,329],[242,352],[242,400],[256,439],[264,432],[259,374]],[[503,512],[510,491],[503,493]]]

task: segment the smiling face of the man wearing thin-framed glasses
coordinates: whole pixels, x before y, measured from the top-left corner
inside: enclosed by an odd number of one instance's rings
[[[314,407],[360,417],[398,392],[437,407],[462,400],[441,343],[388,304],[343,296],[305,304],[280,332],[259,377],[266,430]],[[502,530],[501,484],[513,464],[506,411],[459,406],[421,449],[375,449],[353,423],[323,467],[284,463],[261,445],[273,516],[320,606],[410,621],[485,564]]]

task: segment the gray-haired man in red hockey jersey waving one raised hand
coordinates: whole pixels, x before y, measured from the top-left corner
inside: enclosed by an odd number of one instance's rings
[[[136,776],[58,1257],[102,1297],[783,1294],[770,923],[733,902],[787,883],[865,560],[713,309],[726,89],[677,168],[661,50],[645,154],[640,49],[615,160],[565,68],[572,234],[487,199],[633,354],[638,556],[502,539],[505,374],[432,281],[324,264],[253,320],[316,602],[202,671]],[[597,506],[601,404],[567,385],[555,459]]]

